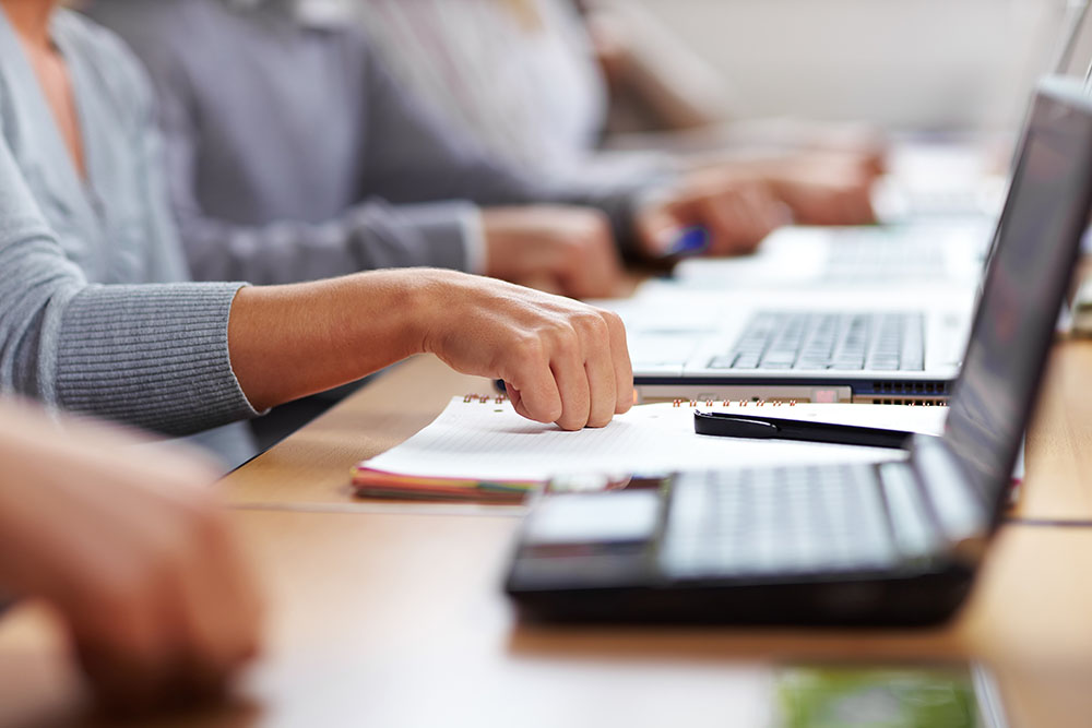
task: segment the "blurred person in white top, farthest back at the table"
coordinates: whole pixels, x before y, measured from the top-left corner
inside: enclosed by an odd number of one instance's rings
[[[732,124],[725,135],[725,115],[713,108],[723,83],[685,43],[633,22],[642,17],[634,3],[587,3],[586,14],[573,0],[344,4],[407,88],[510,164],[560,179],[743,176],[768,184],[798,223],[874,222],[878,153],[870,135],[853,144],[848,132],[805,133],[786,121]],[[619,88],[639,96],[663,127],[686,133],[637,135],[666,150],[601,148]],[[712,142],[689,154],[676,148],[679,138],[699,136]]]

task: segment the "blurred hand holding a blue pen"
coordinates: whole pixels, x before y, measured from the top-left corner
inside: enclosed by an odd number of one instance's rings
[[[764,181],[699,171],[645,204],[638,212],[636,227],[641,249],[650,258],[664,258],[679,232],[696,225],[709,232],[708,254],[740,255],[753,252],[787,220],[787,211]]]

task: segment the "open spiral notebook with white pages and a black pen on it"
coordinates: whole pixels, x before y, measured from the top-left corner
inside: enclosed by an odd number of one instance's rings
[[[524,419],[503,397],[454,397],[428,427],[359,463],[357,494],[369,498],[513,503],[555,476],[624,479],[773,463],[880,462],[900,451],[696,434],[693,408],[939,434],[945,407],[851,404],[674,402],[633,407],[607,427],[566,432]]]

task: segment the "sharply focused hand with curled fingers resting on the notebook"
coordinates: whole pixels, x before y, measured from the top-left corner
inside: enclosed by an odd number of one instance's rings
[[[415,272],[420,350],[466,374],[503,379],[515,411],[566,430],[603,427],[633,404],[617,314],[490,278]]]

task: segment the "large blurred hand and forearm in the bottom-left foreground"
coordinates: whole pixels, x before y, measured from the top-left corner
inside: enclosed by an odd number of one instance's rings
[[[0,403],[0,593],[56,609],[109,708],[216,697],[258,652],[262,600],[214,469],[62,421]]]

